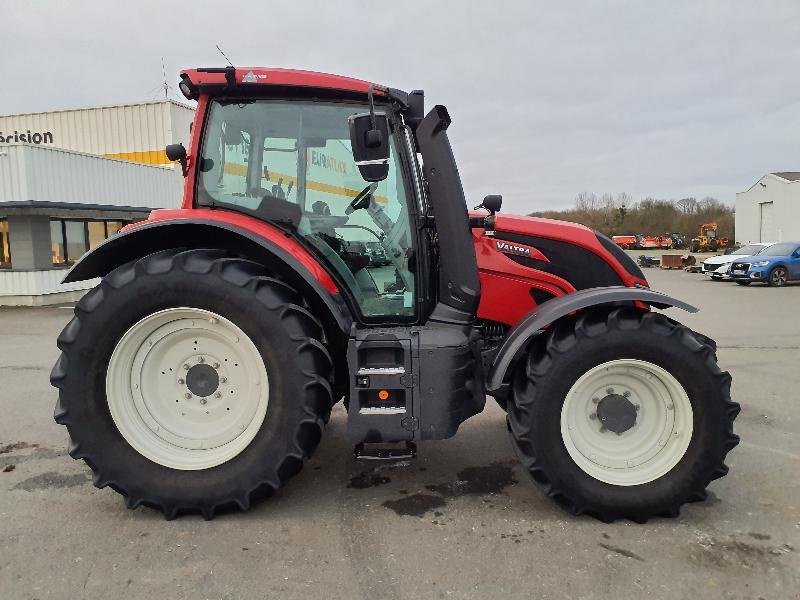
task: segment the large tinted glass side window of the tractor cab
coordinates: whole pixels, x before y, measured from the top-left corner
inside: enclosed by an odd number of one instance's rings
[[[338,275],[361,316],[415,316],[413,236],[394,139],[389,176],[359,174],[347,118],[365,106],[214,102],[198,163],[197,203],[292,228]]]

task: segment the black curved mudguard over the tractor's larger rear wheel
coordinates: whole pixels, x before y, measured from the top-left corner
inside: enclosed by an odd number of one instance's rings
[[[325,325],[328,335],[346,338],[352,323],[351,313],[341,295],[330,288],[335,284],[320,281],[308,265],[264,236],[224,221],[177,219],[146,221],[108,238],[84,255],[64,278],[63,283],[103,277],[115,268],[169,248],[220,248],[259,262],[278,273],[298,290]],[[308,263],[307,257],[305,263]],[[312,265],[320,272],[319,265]],[[325,274],[327,275],[327,274]]]

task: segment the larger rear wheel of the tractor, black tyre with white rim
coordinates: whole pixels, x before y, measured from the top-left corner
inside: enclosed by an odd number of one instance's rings
[[[330,414],[332,363],[298,293],[219,250],[111,272],[51,373],[69,453],[129,508],[246,510],[297,473]]]

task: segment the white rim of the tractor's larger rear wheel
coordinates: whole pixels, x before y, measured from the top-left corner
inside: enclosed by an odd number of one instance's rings
[[[165,467],[199,470],[250,445],[267,413],[269,382],[255,344],[231,321],[199,308],[170,308],[145,317],[117,342],[106,398],[117,429],[137,452]]]

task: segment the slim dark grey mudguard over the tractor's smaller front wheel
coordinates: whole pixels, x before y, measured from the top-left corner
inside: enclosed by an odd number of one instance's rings
[[[508,332],[492,362],[486,382],[487,393],[492,394],[500,391],[511,365],[527,348],[531,338],[543,328],[571,312],[615,302],[644,302],[656,308],[675,306],[691,313],[695,313],[698,310],[691,304],[666,294],[638,287],[589,288],[553,298],[537,306],[535,310],[531,311]]]

